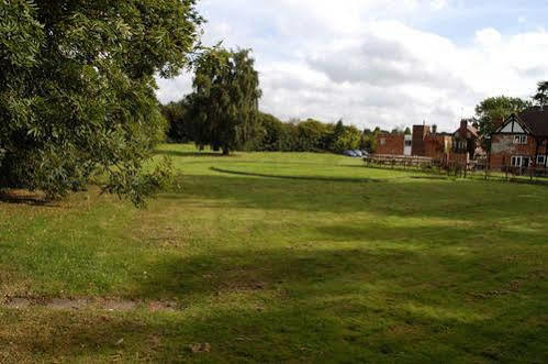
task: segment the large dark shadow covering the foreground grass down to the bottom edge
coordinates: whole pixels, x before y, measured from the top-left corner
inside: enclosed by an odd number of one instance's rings
[[[0,355],[8,362],[543,362],[541,277],[524,295],[470,297],[519,274],[485,254],[295,246],[166,256],[135,294],[178,297],[188,313],[4,310]],[[211,351],[192,353],[193,343]]]

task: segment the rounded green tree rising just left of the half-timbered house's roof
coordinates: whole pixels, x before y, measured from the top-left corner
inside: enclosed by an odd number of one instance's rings
[[[506,96],[493,97],[483,100],[476,107],[477,124],[484,143],[496,129],[496,121],[502,121],[514,112],[521,112],[532,103],[519,98]],[[489,145],[484,145],[489,148]]]

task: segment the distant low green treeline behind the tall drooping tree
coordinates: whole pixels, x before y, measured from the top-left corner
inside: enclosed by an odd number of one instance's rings
[[[195,143],[199,147],[209,145],[204,124],[198,122],[188,101],[171,102],[161,107],[168,122],[167,141],[170,143]],[[241,145],[242,151],[255,152],[334,152],[365,150],[373,153],[379,128],[364,131],[343,121],[325,123],[313,119],[282,122],[278,118],[259,112],[258,121],[250,132],[253,137]],[[403,133],[393,130],[391,133]]]

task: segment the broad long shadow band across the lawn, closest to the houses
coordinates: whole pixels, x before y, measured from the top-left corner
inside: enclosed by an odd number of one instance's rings
[[[256,177],[254,175],[265,177],[260,173],[186,175],[182,194],[166,192],[159,199],[165,203],[183,205],[200,200],[217,203],[219,208],[374,213],[380,218],[443,218],[472,222],[488,218],[493,225],[500,223],[499,219],[544,216],[543,206],[548,203],[548,195],[541,194],[540,187],[528,185],[411,178],[381,179],[382,183],[360,183],[360,179],[351,178],[344,183],[337,178],[295,179],[291,176],[250,178]],[[521,195],[535,196],[536,203]]]

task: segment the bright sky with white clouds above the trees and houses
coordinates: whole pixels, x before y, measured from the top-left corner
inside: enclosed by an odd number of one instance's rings
[[[548,1],[201,0],[205,45],[253,48],[260,109],[360,129],[456,130],[491,96],[548,79]],[[161,102],[192,76],[159,80]]]

